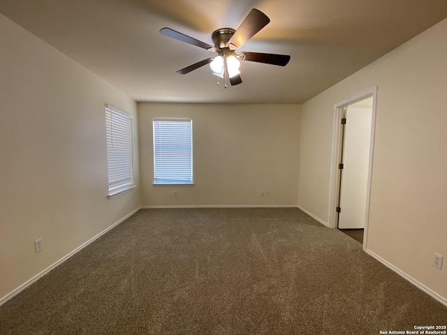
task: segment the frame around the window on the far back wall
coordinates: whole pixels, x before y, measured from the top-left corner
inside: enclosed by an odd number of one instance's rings
[[[191,144],[191,161],[189,163],[189,166],[191,167],[190,172],[190,179],[175,179],[175,178],[158,178],[156,177],[156,146],[157,143],[159,144],[159,141],[156,140],[156,122],[188,122],[190,124],[191,133],[189,134],[191,141],[189,142]],[[194,185],[194,179],[193,179],[193,120],[189,118],[154,118],[152,119],[152,154],[153,154],[153,181],[152,185],[154,186],[193,186]]]

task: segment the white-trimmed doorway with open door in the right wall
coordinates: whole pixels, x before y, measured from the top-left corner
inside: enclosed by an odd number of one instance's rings
[[[374,147],[376,89],[335,105],[332,145],[332,228],[366,248]]]

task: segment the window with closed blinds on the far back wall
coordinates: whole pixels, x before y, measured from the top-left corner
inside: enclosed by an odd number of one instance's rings
[[[193,184],[191,119],[154,119],[154,184]]]

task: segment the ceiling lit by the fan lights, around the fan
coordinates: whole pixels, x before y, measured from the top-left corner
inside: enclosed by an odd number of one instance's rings
[[[270,24],[238,51],[290,54],[286,67],[244,61],[223,89],[212,53],[159,34],[213,44],[251,8]],[[136,101],[303,103],[447,17],[446,0],[0,0],[0,13]]]

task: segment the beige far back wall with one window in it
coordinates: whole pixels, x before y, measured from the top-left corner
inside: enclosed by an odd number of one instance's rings
[[[194,186],[152,186],[156,117],[193,120]],[[143,206],[298,203],[300,105],[139,103],[138,119]]]

